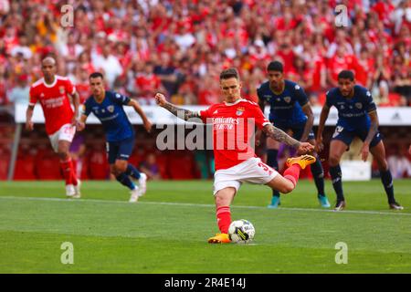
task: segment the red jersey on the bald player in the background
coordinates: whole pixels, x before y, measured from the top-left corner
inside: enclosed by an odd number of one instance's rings
[[[74,94],[76,88],[68,78],[56,75],[53,84],[46,84],[44,78],[37,80],[30,88],[29,105],[40,102],[46,120],[47,135],[52,135],[64,124],[71,123],[74,112],[71,109],[68,94]]]

